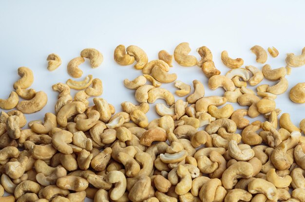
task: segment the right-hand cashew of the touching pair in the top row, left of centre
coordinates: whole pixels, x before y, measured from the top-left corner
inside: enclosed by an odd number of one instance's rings
[[[134,68],[137,70],[142,70],[148,62],[148,57],[146,53],[142,49],[134,45],[128,46],[126,51],[127,54],[133,56],[136,61]]]

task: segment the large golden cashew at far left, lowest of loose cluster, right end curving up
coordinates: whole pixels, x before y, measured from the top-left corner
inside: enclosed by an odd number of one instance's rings
[[[17,109],[22,113],[35,113],[40,111],[48,102],[48,96],[45,92],[36,92],[36,95],[31,100],[23,100],[18,103]]]

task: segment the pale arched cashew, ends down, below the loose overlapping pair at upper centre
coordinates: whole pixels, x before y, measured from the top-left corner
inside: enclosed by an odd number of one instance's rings
[[[164,99],[166,101],[166,104],[173,105],[175,103],[175,98],[173,94],[163,88],[152,88],[148,92],[148,103],[154,103],[157,99]]]

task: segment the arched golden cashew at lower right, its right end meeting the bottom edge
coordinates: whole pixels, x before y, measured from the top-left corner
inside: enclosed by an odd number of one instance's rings
[[[260,178],[256,178],[248,184],[248,191],[251,194],[262,193],[271,201],[277,201],[278,198],[276,187],[267,180]]]

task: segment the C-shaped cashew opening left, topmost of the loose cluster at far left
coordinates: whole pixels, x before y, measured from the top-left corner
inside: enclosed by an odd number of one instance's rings
[[[14,83],[14,85],[13,85],[14,89],[17,89],[18,87],[21,89],[27,89],[33,84],[34,75],[30,68],[19,67],[18,75],[21,78]]]

